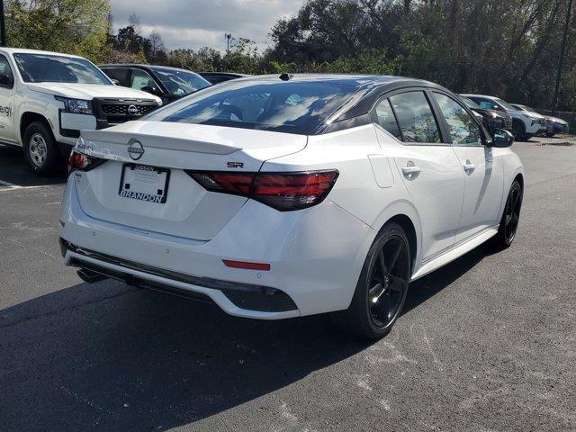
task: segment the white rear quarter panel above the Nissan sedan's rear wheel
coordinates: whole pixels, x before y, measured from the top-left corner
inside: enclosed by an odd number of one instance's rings
[[[393,155],[389,153],[388,148],[384,151],[378,143],[374,125],[371,124],[311,136],[302,151],[267,160],[262,166],[264,172],[338,169],[338,180],[327,200],[371,228],[362,239],[362,247],[356,251],[356,280],[378,231],[393,216],[408,216],[414,224],[419,242],[418,212],[410,202]],[[379,165],[377,169],[373,169],[375,164]],[[346,236],[347,232],[340,235]]]

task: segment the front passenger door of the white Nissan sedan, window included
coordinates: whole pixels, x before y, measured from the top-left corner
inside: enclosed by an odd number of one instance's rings
[[[440,92],[434,92],[434,98],[465,179],[458,243],[499,223],[504,168],[494,149],[484,144],[482,127],[464,105]]]

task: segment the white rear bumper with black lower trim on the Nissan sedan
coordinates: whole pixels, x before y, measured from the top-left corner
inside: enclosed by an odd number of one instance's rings
[[[248,200],[209,241],[134,229],[85,214],[74,175],[60,220],[67,266],[199,294],[230,315],[264,320],[346,309],[375,235],[328,200],[292,212]],[[269,263],[270,271],[230,268],[222,259]]]

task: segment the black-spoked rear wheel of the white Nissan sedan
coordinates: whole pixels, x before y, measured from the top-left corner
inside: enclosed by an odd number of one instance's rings
[[[401,315],[411,271],[406,233],[389,222],[370,247],[350,306],[334,314],[335,324],[359,338],[386,336]]]

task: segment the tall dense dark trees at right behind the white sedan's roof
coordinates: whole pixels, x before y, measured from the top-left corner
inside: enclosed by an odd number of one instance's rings
[[[576,3],[576,2],[574,2]],[[266,70],[372,72],[547,107],[567,0],[307,0],[270,36]],[[572,6],[575,8],[576,6]],[[510,14],[510,11],[514,11]],[[559,106],[573,109],[576,19]],[[573,103],[573,102],[572,102]]]

